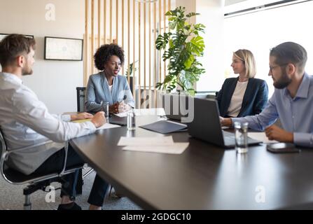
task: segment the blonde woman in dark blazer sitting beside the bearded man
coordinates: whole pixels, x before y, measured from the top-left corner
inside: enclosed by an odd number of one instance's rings
[[[256,62],[250,50],[240,49],[232,55],[232,69],[237,78],[227,78],[216,97],[224,118],[239,118],[260,113],[267,104],[268,87],[256,76]]]

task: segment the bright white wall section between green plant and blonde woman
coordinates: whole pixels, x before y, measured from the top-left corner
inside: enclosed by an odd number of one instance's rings
[[[204,57],[199,57],[206,72],[197,82],[197,91],[218,91],[225,80],[223,71],[223,6],[224,0],[177,0],[176,6],[185,6],[186,11],[200,13],[196,23],[206,26],[202,34],[205,43]]]

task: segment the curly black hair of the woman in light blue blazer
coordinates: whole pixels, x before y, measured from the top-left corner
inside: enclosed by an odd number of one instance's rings
[[[97,52],[95,53],[94,59],[95,59],[95,67],[99,69],[100,71],[104,70],[104,64],[109,61],[109,59],[116,55],[120,58],[120,63],[124,63],[125,56],[124,56],[124,50],[119,45],[115,43],[111,44],[104,44],[102,45]]]

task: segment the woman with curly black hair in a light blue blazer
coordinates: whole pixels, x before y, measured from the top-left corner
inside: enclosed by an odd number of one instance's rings
[[[120,76],[124,50],[111,43],[102,45],[95,53],[95,66],[100,71],[90,76],[85,107],[87,111],[102,110],[102,102],[109,102],[110,113],[121,113],[134,107],[134,98],[125,76]]]

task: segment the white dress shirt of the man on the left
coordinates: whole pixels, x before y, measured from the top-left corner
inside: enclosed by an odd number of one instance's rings
[[[32,174],[50,155],[63,148],[65,141],[96,130],[91,122],[70,123],[70,120],[69,115],[51,115],[18,76],[0,73],[0,127],[8,151],[49,141],[25,152],[12,153],[8,158],[10,167]]]

